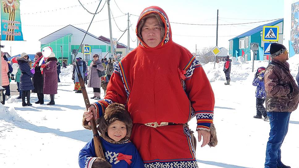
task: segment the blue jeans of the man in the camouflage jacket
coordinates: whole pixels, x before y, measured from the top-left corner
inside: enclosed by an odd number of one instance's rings
[[[291,112],[267,112],[270,120],[270,137],[266,149],[265,168],[276,168],[282,165],[281,144],[288,133]]]

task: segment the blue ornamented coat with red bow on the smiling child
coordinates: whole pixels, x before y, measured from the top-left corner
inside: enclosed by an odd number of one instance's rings
[[[121,144],[107,142],[100,137],[106,161],[112,165],[112,168],[143,168],[144,164],[135,145],[127,140]],[[95,161],[95,144],[93,139],[89,141],[79,153],[80,168],[91,168]],[[129,164],[130,163],[130,164]]]

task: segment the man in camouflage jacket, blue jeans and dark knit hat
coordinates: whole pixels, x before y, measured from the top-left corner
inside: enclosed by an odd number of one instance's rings
[[[279,43],[272,43],[270,54],[272,62],[268,65],[264,76],[266,111],[271,127],[265,168],[290,168],[281,162],[280,147],[288,132],[291,112],[298,106],[299,89],[290,73],[286,47]]]

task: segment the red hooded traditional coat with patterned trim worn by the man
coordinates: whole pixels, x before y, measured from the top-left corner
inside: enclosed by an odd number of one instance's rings
[[[125,104],[133,120],[131,140],[145,167],[197,167],[184,124],[196,116],[197,130],[210,129],[213,90],[195,57],[172,41],[169,20],[161,8],[146,8],[139,20],[151,12],[158,13],[165,24],[164,39],[155,48],[139,39],[139,46],[115,67],[105,99],[94,104],[99,116],[112,102]],[[154,122],[175,124],[144,125]]]

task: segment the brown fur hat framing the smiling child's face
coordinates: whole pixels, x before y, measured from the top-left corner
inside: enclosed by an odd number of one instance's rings
[[[127,135],[118,142],[111,139],[107,133],[108,126],[116,120],[122,121],[127,125]],[[119,103],[110,104],[105,109],[104,115],[102,115],[96,121],[96,124],[99,124],[98,130],[101,133],[101,136],[106,141],[112,142],[112,143],[122,143],[122,142],[128,140],[131,136],[131,130],[132,130],[132,126],[133,126],[133,122],[132,122],[129,112],[125,109],[124,105],[119,104]]]

